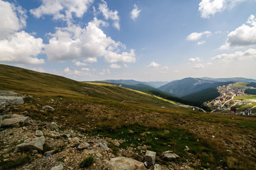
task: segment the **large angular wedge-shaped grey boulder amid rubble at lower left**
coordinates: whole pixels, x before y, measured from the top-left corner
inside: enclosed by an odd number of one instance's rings
[[[38,152],[43,151],[43,145],[45,144],[45,137],[35,137],[33,140],[24,142],[16,146],[16,151],[22,150],[38,150]]]

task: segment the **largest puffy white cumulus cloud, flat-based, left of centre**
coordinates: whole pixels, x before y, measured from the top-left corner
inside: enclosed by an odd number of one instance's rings
[[[56,33],[49,33],[52,38],[45,45],[48,60],[96,62],[96,57],[104,56],[106,62],[135,62],[134,51],[118,54],[119,47],[125,45],[108,37],[94,21],[89,22],[86,28],[69,25],[57,28]]]

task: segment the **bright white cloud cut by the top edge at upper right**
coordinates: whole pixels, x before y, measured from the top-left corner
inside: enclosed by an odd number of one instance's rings
[[[232,8],[241,1],[246,0],[201,0],[199,3],[199,11],[202,18],[209,18],[215,13],[224,11],[227,7]]]

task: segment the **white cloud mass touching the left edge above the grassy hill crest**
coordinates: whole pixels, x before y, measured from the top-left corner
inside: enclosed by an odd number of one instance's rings
[[[0,0],[0,62],[43,64],[37,56],[43,51],[43,40],[20,31],[26,26],[26,11]],[[20,32],[18,32],[20,31]]]

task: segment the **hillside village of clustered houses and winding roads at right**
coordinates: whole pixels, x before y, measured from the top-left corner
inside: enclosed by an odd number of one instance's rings
[[[235,83],[238,84],[238,83]],[[253,103],[248,102],[247,100],[243,99],[235,99],[235,96],[246,96],[245,90],[246,89],[255,89],[252,86],[246,86],[243,88],[238,88],[235,84],[228,84],[223,86],[218,86],[218,92],[221,94],[213,101],[207,101],[204,103],[205,106],[210,107],[213,111],[212,112],[221,112],[224,114],[235,114],[235,115],[251,115]],[[242,111],[238,110],[237,108],[241,108],[241,106],[248,106],[244,108]]]

